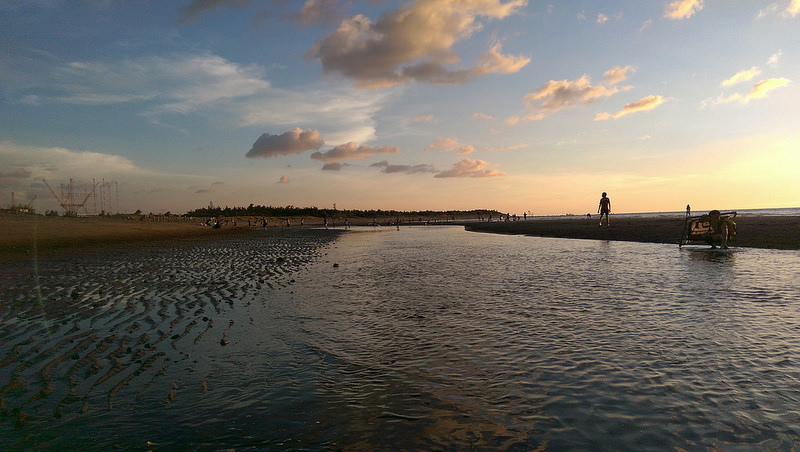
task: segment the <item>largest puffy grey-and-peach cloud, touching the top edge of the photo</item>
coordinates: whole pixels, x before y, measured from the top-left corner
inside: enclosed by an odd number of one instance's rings
[[[416,0],[383,14],[373,23],[364,15],[341,22],[306,52],[318,59],[325,74],[339,73],[362,88],[385,88],[412,81],[464,83],[489,73],[516,72],[524,57],[502,55],[493,45],[470,69],[451,69],[460,58],[454,45],[480,30],[478,20],[503,19],[527,0]]]

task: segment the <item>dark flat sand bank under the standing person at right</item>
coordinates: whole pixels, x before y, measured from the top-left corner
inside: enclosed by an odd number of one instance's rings
[[[612,215],[610,227],[598,227],[598,221],[597,216],[537,218],[516,222],[469,223],[465,227],[475,232],[677,244],[684,220],[679,217],[626,218]],[[732,242],[733,246],[800,249],[799,216],[740,215],[736,218],[736,226],[737,234]]]

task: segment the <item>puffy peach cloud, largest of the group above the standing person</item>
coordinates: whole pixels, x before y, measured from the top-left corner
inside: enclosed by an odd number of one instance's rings
[[[556,112],[567,108],[588,106],[618,93],[616,87],[592,86],[588,75],[578,80],[550,80],[543,87],[523,97],[531,110]]]

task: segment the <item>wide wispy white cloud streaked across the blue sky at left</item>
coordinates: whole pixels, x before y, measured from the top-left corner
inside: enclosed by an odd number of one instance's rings
[[[73,61],[35,72],[2,65],[2,59],[0,66],[3,78],[24,79],[26,91],[38,90],[36,97],[20,96],[29,104],[126,104],[151,124],[176,130],[182,129],[172,124],[173,118],[193,113],[229,128],[288,130],[302,123],[335,131],[326,137],[335,143],[373,140],[375,115],[391,95],[329,80],[275,88],[265,78],[265,67],[208,53]]]

